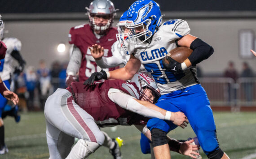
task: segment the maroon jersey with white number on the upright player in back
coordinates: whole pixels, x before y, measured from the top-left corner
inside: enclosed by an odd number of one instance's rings
[[[118,31],[115,28],[110,28],[104,36],[97,39],[89,24],[75,26],[70,29],[69,43],[75,44],[75,46],[78,47],[82,52],[81,67],[79,69],[79,81],[83,82],[88,79],[92,73],[101,71],[101,68],[97,66],[88,47],[91,47],[93,44],[101,45],[104,47],[104,57],[110,57],[112,56],[111,46],[116,41],[115,34],[117,33]],[[105,70],[112,71],[118,68],[119,67],[114,67]]]

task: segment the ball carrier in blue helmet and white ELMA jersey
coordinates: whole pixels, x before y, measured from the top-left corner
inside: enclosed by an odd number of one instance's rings
[[[208,158],[229,159],[219,147],[212,109],[196,77],[195,65],[211,56],[213,48],[189,34],[190,28],[185,20],[173,19],[162,24],[159,5],[153,0],[137,0],[128,9],[127,16],[126,26],[131,31],[123,47],[131,54],[128,63],[121,69],[95,73],[85,84],[107,78],[131,79],[142,63],[161,92],[156,105],[172,112],[185,113]],[[163,63],[168,52],[179,46],[190,47],[193,52],[183,63],[170,58],[169,65]],[[147,126],[154,136],[155,157],[170,158],[164,136],[176,126],[160,119],[150,119]]]

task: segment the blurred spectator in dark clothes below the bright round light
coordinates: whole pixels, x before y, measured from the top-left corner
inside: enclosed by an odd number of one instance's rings
[[[57,90],[59,88],[59,73],[61,71],[60,63],[58,61],[54,61],[52,64],[52,69],[51,69],[51,83],[53,85],[53,91]]]

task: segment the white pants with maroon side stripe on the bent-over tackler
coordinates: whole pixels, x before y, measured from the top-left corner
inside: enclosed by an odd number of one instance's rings
[[[57,89],[45,103],[46,136],[50,159],[83,159],[102,146],[104,135],[91,115],[77,105],[66,89]],[[75,146],[74,138],[82,141]],[[73,150],[74,149],[74,150]],[[69,153],[74,153],[75,156]]]

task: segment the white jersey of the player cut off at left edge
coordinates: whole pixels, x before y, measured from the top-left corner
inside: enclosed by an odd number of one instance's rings
[[[9,80],[11,78],[11,74],[13,73],[13,57],[11,56],[11,53],[13,50],[20,52],[21,51],[21,41],[17,38],[4,38],[2,40],[6,47],[7,51],[5,54],[5,58],[1,60],[1,66],[0,66],[0,77],[3,81]]]

